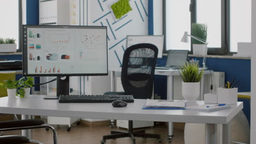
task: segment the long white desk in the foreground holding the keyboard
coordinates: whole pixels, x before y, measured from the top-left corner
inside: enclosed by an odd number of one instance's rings
[[[110,103],[60,104],[58,100],[44,100],[44,95],[27,98],[0,98],[0,113],[96,119],[123,119],[137,121],[206,123],[206,143],[216,143],[217,124],[223,124],[223,143],[230,141],[230,120],[243,109],[242,102],[231,109],[214,112],[190,110],[142,110],[144,99],[135,99],[127,107],[112,107]],[[203,101],[197,101],[203,104]]]

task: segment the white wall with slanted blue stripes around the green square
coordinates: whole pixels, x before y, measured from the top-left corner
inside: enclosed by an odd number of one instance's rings
[[[126,35],[148,34],[148,0],[131,0],[129,3],[132,10],[126,14],[127,16],[124,19],[119,21],[115,19],[112,12],[109,13],[111,11],[110,5],[115,2],[117,1],[90,1],[89,4],[89,25],[103,25],[108,27],[108,49],[110,49],[108,50],[109,67],[117,67],[120,65],[119,61],[123,62],[124,49],[126,49]],[[107,15],[102,17],[105,14]]]

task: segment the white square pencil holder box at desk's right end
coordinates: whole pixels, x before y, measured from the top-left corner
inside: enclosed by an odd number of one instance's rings
[[[218,104],[236,104],[237,103],[237,88],[223,88],[219,87]]]

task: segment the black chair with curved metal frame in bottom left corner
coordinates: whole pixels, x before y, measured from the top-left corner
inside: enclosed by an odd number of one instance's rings
[[[25,130],[25,129],[36,129],[36,128],[49,128],[53,130],[53,140],[54,144],[57,144],[57,134],[54,129],[49,124],[44,124],[41,120],[27,119],[18,121],[2,121],[0,122],[0,131],[10,131],[10,130]],[[10,143],[10,144],[22,144],[22,143],[39,143],[42,142],[37,140],[30,140],[26,136],[21,135],[7,135],[0,136],[0,143]]]

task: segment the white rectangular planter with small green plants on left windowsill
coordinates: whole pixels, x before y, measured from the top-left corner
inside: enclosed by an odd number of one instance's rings
[[[15,39],[0,38],[0,52],[16,52],[16,47]]]

